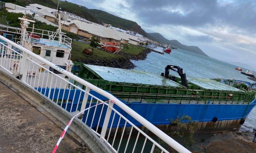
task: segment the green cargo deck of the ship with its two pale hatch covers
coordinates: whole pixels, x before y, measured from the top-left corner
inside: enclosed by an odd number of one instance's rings
[[[206,103],[207,100],[213,100],[233,104],[234,101],[251,102],[255,97],[255,92],[240,90],[210,79],[187,77],[186,88],[181,85],[179,76],[175,76],[175,80],[169,80],[151,72],[86,64],[75,65],[75,69],[75,75],[125,101]]]

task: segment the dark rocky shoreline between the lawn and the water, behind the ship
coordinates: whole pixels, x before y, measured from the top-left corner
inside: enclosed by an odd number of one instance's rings
[[[98,59],[90,59],[90,60],[77,60],[78,62],[82,62],[90,65],[99,65],[99,66],[107,66],[121,69],[133,69],[136,65],[134,65],[130,60],[145,60],[147,58],[148,53],[151,50],[146,48],[143,52],[138,55],[128,54],[125,51],[119,52],[118,54],[123,55],[123,57],[116,58],[110,61],[106,60],[98,60]],[[89,55],[87,55],[89,56]]]

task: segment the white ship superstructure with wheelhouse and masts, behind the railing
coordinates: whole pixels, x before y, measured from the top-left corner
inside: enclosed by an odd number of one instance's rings
[[[34,28],[34,23],[36,21],[28,19],[26,15],[21,20],[21,28],[10,27],[6,25],[0,25],[0,32],[1,34],[19,44],[20,46],[30,50],[34,54],[41,56],[42,58],[46,59],[49,62],[54,63],[61,69],[65,69],[71,72],[71,67],[73,62],[70,60],[70,52],[71,52],[71,43],[72,39],[65,35],[65,33],[61,32],[61,24],[60,24],[60,16],[59,16],[59,27],[56,32],[47,31],[43,29],[36,29]],[[33,23],[33,27],[29,27]],[[2,42],[2,40],[1,40]],[[4,43],[4,42],[2,42]],[[8,45],[8,44],[6,44]],[[18,53],[22,52],[15,47],[12,49],[16,50]],[[8,50],[7,48],[1,48],[1,56],[6,56],[6,58],[11,58],[10,63],[10,70],[16,71],[17,69],[23,69],[20,63],[20,56],[18,54],[14,54],[14,51]],[[37,62],[37,64],[45,66],[44,63],[39,62],[36,58],[29,57],[30,60]],[[6,59],[7,61],[7,59]],[[9,64],[8,63],[8,64]],[[28,69],[28,74],[31,82],[36,82],[35,80],[44,79],[46,82],[47,77],[44,77],[43,73],[48,70],[55,72],[57,75],[61,77],[65,77],[65,75],[60,74],[59,72],[55,71],[51,67],[45,67],[46,69],[41,69],[36,64],[30,65]],[[53,76],[54,79],[54,76]],[[68,78],[65,78],[68,79]],[[39,87],[45,86],[45,84],[38,85]],[[37,87],[37,85],[35,85]],[[47,86],[45,86],[47,87]],[[62,87],[62,86],[61,86]]]

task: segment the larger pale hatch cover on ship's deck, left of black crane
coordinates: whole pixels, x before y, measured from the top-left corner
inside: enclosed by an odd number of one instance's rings
[[[163,76],[151,72],[143,72],[137,70],[118,69],[105,66],[87,65],[84,64],[91,72],[96,73],[104,80],[112,82],[148,84],[158,86],[169,86],[172,88],[184,88],[178,83],[168,80]]]

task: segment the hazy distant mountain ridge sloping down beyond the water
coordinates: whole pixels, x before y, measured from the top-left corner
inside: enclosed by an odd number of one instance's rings
[[[151,39],[154,39],[154,40],[157,40],[157,41],[161,41],[161,42],[164,42],[164,43],[168,43],[170,45],[173,45],[175,47],[179,47],[180,49],[187,50],[187,51],[190,51],[192,53],[196,53],[196,54],[199,54],[199,55],[209,57],[207,54],[205,54],[197,46],[187,46],[187,45],[181,44],[178,40],[168,40],[168,39],[164,38],[160,33],[155,33],[155,32],[154,33],[146,33],[146,35],[147,35],[148,38],[151,38]]]

